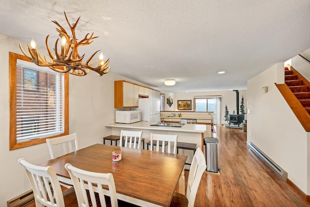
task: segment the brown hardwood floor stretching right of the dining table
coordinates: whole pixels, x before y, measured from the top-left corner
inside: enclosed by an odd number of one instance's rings
[[[246,132],[220,126],[216,132],[219,175],[202,175],[195,207],[310,206],[248,148]]]

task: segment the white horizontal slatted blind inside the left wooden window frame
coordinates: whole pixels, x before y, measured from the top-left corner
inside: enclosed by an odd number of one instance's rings
[[[24,65],[16,69],[17,143],[62,134],[64,75]]]

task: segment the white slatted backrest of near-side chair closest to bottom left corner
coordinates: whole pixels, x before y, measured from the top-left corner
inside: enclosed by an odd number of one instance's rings
[[[36,207],[64,207],[62,189],[54,168],[30,164],[18,159],[30,181]]]

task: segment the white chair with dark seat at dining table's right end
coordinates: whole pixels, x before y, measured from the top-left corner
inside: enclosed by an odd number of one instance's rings
[[[186,196],[174,192],[170,207],[194,207],[199,183],[206,168],[207,165],[204,154],[199,147],[196,149],[188,172]]]

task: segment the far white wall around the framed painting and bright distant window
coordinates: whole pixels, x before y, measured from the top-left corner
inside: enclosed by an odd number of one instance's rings
[[[239,113],[240,113],[240,104],[243,96],[244,99],[244,110],[247,112],[247,90],[238,90],[239,91]],[[169,96],[169,95],[168,95]],[[168,97],[166,95],[166,97]],[[221,124],[227,124],[224,118],[225,115],[225,106],[229,110],[229,113],[233,113],[233,110],[236,111],[236,92],[234,91],[212,91],[212,92],[187,92],[187,93],[174,93],[170,94],[173,98],[173,105],[169,107],[166,103],[165,110],[166,111],[177,111],[178,110],[178,100],[192,100],[192,104],[194,103],[195,96],[222,96],[221,103]],[[167,102],[167,101],[166,101]],[[168,107],[167,107],[168,106]],[[193,107],[192,107],[193,111]]]

